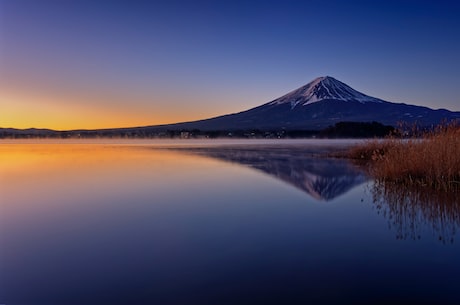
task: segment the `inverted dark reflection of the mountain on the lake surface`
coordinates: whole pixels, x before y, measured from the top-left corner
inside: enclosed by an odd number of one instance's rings
[[[361,169],[347,160],[325,158],[331,150],[328,147],[245,145],[174,150],[260,170],[323,201],[330,201],[368,180]]]

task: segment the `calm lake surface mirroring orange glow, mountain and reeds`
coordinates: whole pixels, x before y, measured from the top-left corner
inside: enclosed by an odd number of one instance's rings
[[[0,142],[0,304],[460,304],[458,198],[349,144]]]

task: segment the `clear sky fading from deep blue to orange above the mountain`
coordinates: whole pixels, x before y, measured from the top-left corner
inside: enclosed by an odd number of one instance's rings
[[[460,111],[456,1],[0,0],[0,127],[243,111],[319,76]]]

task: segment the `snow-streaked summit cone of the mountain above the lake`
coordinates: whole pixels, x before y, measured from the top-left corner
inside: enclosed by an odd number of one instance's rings
[[[270,102],[271,105],[289,103],[291,108],[298,105],[305,106],[323,100],[337,100],[343,102],[381,103],[380,99],[356,91],[345,83],[331,76],[317,77],[305,86],[295,89],[286,95]]]

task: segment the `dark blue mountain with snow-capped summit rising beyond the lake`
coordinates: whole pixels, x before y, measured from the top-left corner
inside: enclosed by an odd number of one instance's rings
[[[165,129],[311,129],[337,122],[399,122],[422,126],[460,119],[460,112],[387,102],[361,93],[333,77],[318,77],[273,101],[239,113],[211,119],[152,126]]]

